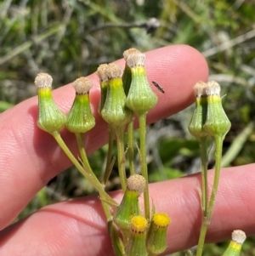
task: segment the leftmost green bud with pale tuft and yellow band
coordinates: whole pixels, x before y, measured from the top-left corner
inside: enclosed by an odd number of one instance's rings
[[[65,115],[53,100],[52,82],[53,78],[47,73],[40,73],[35,79],[39,101],[37,126],[50,134],[59,132],[64,127],[66,120]]]

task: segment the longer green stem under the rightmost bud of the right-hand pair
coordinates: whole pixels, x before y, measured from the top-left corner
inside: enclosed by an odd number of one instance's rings
[[[215,137],[214,139],[215,139],[215,145],[216,145],[214,180],[213,180],[212,193],[210,196],[209,205],[207,208],[207,217],[203,219],[202,226],[201,226],[201,232],[200,232],[200,237],[198,241],[196,256],[201,256],[202,254],[202,250],[203,250],[206,235],[207,235],[207,229],[212,219],[212,211],[214,207],[215,197],[218,191],[218,180],[219,180],[219,174],[220,174],[220,163],[222,158],[222,146],[223,146],[224,139],[219,136]]]

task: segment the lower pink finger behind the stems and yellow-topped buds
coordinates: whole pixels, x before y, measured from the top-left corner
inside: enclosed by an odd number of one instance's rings
[[[254,168],[251,164],[222,171],[207,242],[230,239],[236,229],[255,234]],[[211,187],[212,171],[208,177]],[[150,185],[156,212],[168,213],[172,219],[166,253],[197,244],[202,219],[200,183],[201,175],[195,174]],[[114,255],[106,229],[99,199],[90,196],[42,208],[8,227],[0,233],[0,247],[3,255]]]

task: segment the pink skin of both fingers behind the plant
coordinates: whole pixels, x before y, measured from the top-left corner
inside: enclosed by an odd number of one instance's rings
[[[123,60],[118,60],[124,65]],[[194,48],[178,45],[146,53],[145,67],[149,81],[164,89],[148,122],[156,122],[181,111],[195,100],[193,85],[207,81],[206,60]],[[93,74],[91,103],[97,126],[88,133],[86,145],[92,153],[107,140],[105,122],[97,114],[99,79]],[[65,113],[71,107],[74,91],[71,85],[54,90],[54,100]],[[74,136],[62,132],[74,154]],[[0,255],[113,255],[107,236],[105,216],[98,197],[88,196],[49,205],[26,219],[10,225],[31,198],[55,175],[71,166],[54,139],[37,128],[37,97],[21,102],[0,115]],[[247,236],[255,233],[254,164],[224,168],[207,242],[230,238],[232,230],[241,229]],[[209,172],[212,185],[212,171]],[[150,196],[157,212],[173,220],[168,229],[166,253],[197,243],[201,226],[199,190],[201,175],[168,180],[150,185]],[[112,196],[119,202],[122,193]]]

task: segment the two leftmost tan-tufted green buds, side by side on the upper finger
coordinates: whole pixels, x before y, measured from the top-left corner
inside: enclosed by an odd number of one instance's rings
[[[38,74],[35,80],[39,100],[38,127],[50,134],[59,132],[64,126],[72,133],[86,133],[94,128],[95,121],[89,102],[92,82],[86,77],[80,77],[73,82],[76,97],[67,117],[54,102],[52,82],[53,78],[47,73]]]

